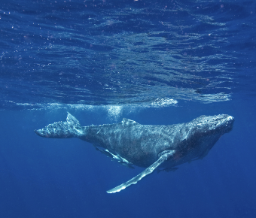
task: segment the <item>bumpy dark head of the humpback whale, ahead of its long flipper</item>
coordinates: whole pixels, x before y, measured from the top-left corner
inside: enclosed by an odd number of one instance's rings
[[[203,159],[214,144],[233,129],[234,118],[227,114],[200,116],[177,129],[173,150],[175,155],[169,165],[180,165],[195,159]]]

